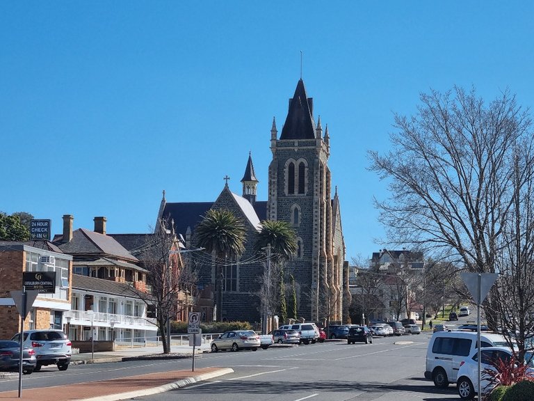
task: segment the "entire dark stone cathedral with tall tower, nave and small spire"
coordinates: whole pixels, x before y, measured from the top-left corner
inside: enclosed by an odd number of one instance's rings
[[[245,166],[243,193],[232,193],[228,184],[215,201],[172,203],[163,199],[158,222],[170,219],[175,232],[184,236],[187,248],[195,246],[195,227],[207,210],[227,209],[234,212],[247,228],[246,249],[236,262],[223,267],[223,301],[215,305],[215,266],[208,258],[185,258],[195,263],[198,272],[197,310],[204,320],[213,320],[214,308],[222,307],[223,320],[259,322],[259,289],[266,266],[254,255],[255,235],[260,221],[288,221],[297,233],[298,251],[286,263],[296,283],[298,317],[307,321],[341,321],[343,295],[346,290],[348,263],[341,227],[341,210],[337,187],[332,197],[328,167],[330,136],[314,120],[313,99],[307,97],[304,81],[298,81],[289,100],[289,111],[280,136],[273,119],[270,150],[273,160],[268,166],[268,199],[256,198],[257,180],[249,155]],[[186,253],[184,253],[186,256]],[[344,291],[346,290],[346,291]],[[347,306],[346,306],[347,307]]]

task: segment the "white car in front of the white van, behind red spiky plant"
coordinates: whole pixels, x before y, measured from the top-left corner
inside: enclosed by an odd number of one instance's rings
[[[512,359],[512,351],[508,347],[487,347],[480,349],[480,371],[482,375],[482,382],[480,388],[482,393],[486,394],[492,391],[494,384],[489,381],[489,377],[485,370],[495,370],[495,363],[497,360],[510,362]],[[530,357],[528,357],[530,359]],[[458,370],[458,395],[462,400],[472,400],[478,392],[478,349],[471,352],[469,358],[460,363]],[[526,375],[534,377],[534,363],[530,359],[528,361],[528,368]]]

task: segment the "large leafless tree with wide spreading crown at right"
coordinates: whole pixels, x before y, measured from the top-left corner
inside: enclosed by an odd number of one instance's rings
[[[395,117],[398,133],[391,136],[390,152],[369,152],[371,170],[389,180],[391,198],[376,202],[389,241],[449,253],[469,272],[531,265],[521,235],[532,227],[528,111],[508,91],[489,104],[460,88],[422,94],[421,102],[416,116]],[[494,286],[485,301],[494,329],[502,301]]]

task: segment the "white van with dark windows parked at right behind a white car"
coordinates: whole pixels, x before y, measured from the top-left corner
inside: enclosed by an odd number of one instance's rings
[[[445,388],[455,383],[460,363],[476,349],[476,332],[437,331],[432,335],[426,350],[425,378],[432,379],[436,387]],[[508,347],[501,334],[480,333],[481,347]]]

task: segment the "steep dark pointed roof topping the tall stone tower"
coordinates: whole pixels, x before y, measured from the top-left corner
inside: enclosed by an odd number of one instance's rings
[[[304,81],[300,79],[295,95],[289,101],[286,123],[282,128],[280,139],[314,139],[315,122],[313,118],[313,101],[306,95]]]

